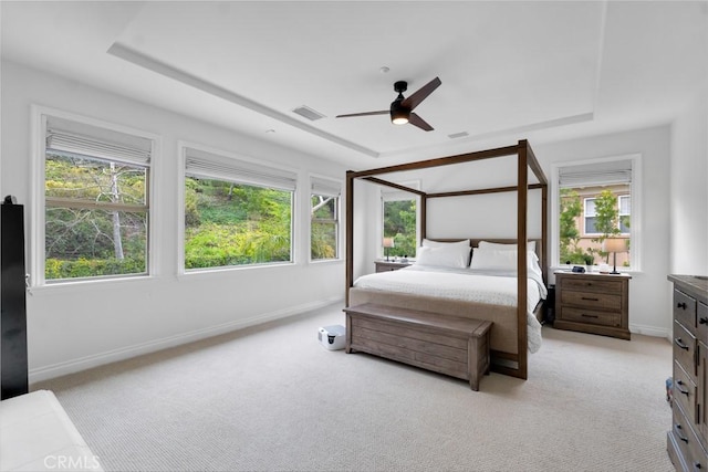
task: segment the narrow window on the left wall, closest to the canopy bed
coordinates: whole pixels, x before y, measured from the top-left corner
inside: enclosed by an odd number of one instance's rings
[[[310,180],[310,259],[339,259],[341,183],[319,177]]]

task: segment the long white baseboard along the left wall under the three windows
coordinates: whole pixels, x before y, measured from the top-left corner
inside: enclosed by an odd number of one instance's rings
[[[299,315],[299,314],[322,308],[324,306],[332,305],[339,302],[343,303],[344,301],[340,296],[320,300],[316,302],[310,302],[302,305],[292,306],[285,310],[278,310],[274,312],[262,313],[260,315],[252,316],[246,319],[237,319],[237,321],[223,323],[217,326],[210,326],[207,328],[196,329],[189,333],[183,333],[176,336],[168,336],[168,337],[150,340],[147,343],[135,344],[132,346],[106,350],[106,352],[94,354],[86,357],[65,360],[62,363],[52,364],[44,367],[38,367],[34,369],[30,369],[29,382],[33,384],[42,380],[49,380],[51,378],[61,377],[67,374],[74,374],[81,370],[86,370],[86,369],[98,367],[105,364],[111,364],[118,360],[137,357],[144,354],[155,353],[157,350],[166,349],[168,347],[179,346],[183,344],[192,343],[195,340],[218,336],[220,334],[243,329],[249,326],[254,326],[254,325],[272,322],[280,318]]]

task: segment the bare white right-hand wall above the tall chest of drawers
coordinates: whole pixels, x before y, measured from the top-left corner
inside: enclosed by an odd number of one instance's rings
[[[671,126],[670,272],[708,275],[708,91]]]

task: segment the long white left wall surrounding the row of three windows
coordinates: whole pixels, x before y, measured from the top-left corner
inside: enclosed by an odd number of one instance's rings
[[[38,287],[28,296],[30,381],[289,316],[342,300],[344,264],[309,263],[308,172],[335,177],[345,169],[331,161],[217,128],[79,82],[3,62],[0,195],[14,195],[30,220],[30,106],[58,108],[162,137],[155,157],[157,275]],[[179,99],[179,97],[175,97]],[[295,260],[290,266],[247,268],[177,276],[177,141],[300,169]],[[28,254],[30,259],[32,254]],[[314,332],[313,332],[314,336]],[[238,361],[238,358],[235,358]]]

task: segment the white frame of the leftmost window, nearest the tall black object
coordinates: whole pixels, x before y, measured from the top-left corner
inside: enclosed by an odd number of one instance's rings
[[[162,138],[158,135],[132,128],[128,126],[119,125],[112,122],[105,122],[98,118],[87,117],[62,109],[51,108],[46,106],[32,104],[30,106],[30,114],[32,116],[31,124],[31,156],[30,161],[30,198],[29,207],[31,208],[29,222],[30,222],[30,237],[29,237],[29,254],[28,254],[28,268],[31,276],[28,280],[28,284],[31,289],[43,290],[45,287],[60,287],[70,286],[76,284],[101,284],[107,282],[125,282],[133,280],[145,280],[154,277],[157,274],[157,253],[155,241],[160,238],[159,234],[159,219],[157,214],[159,208],[155,198],[156,189],[156,174],[159,169],[159,153],[162,148]],[[150,159],[146,167],[146,182],[147,186],[145,192],[145,199],[147,203],[147,243],[146,243],[146,272],[139,274],[116,274],[116,275],[97,275],[91,277],[76,277],[76,279],[56,279],[46,280],[44,275],[45,271],[45,159],[46,159],[46,130],[48,130],[48,117],[54,117],[61,120],[73,122],[79,126],[88,126],[95,128],[102,128],[108,133],[119,133],[136,138],[147,139],[150,141]],[[101,139],[101,137],[96,137]],[[105,157],[97,156],[98,159],[108,160]],[[103,206],[98,209],[105,209]]]

